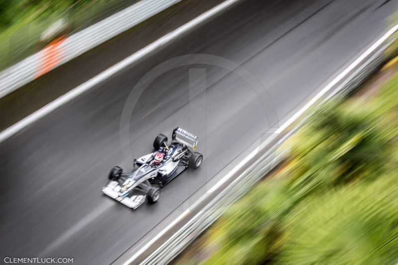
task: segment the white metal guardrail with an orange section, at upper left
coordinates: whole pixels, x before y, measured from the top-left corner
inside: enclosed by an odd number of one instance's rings
[[[0,98],[181,0],[141,0],[0,72]]]

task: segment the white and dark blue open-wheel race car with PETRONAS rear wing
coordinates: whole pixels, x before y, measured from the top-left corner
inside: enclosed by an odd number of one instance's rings
[[[159,199],[160,188],[188,167],[200,167],[203,156],[195,152],[197,145],[198,136],[180,127],[173,130],[171,143],[168,143],[167,136],[159,134],[153,142],[156,151],[134,159],[134,169],[130,173],[113,167],[102,192],[132,209],[146,200],[155,203]]]

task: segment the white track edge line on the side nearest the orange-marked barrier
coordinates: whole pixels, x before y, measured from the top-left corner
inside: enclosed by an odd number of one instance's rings
[[[82,85],[73,88],[71,91],[67,92],[66,94],[58,97],[54,101],[48,103],[44,107],[40,108],[39,110],[33,112],[32,114],[28,115],[27,117],[23,118],[22,120],[18,121],[14,125],[8,127],[4,131],[0,133],[0,143],[4,140],[8,139],[15,133],[21,131],[22,129],[26,128],[30,124],[36,122],[37,120],[43,118],[44,116],[48,115],[58,107],[64,105],[65,103],[71,101],[75,97],[79,96],[80,94],[88,91],[89,89],[95,87],[96,85],[100,84],[104,80],[108,79],[112,75],[116,74],[120,70],[126,68],[127,66],[131,65],[132,63],[137,62],[144,56],[148,55],[149,53],[153,52],[154,50],[166,45],[167,43],[171,42],[173,39],[177,38],[178,36],[188,32],[192,28],[198,26],[203,21],[209,19],[210,17],[216,15],[217,13],[223,11],[233,3],[239,0],[226,0],[215,7],[211,8],[210,10],[202,13],[198,17],[194,18],[193,20],[189,21],[188,23],[182,25],[181,27],[175,29],[174,31],[164,35],[160,39],[157,39],[153,43],[149,44],[148,46],[138,50],[137,52],[131,54],[127,58],[123,59],[122,61],[118,62],[117,64],[111,66],[110,68],[106,69],[105,71],[101,72],[99,75],[95,76],[94,78],[86,81]]]

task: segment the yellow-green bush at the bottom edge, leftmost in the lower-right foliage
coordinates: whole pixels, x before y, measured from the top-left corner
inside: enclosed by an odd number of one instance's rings
[[[259,264],[272,261],[279,251],[280,222],[290,208],[280,181],[260,185],[233,205],[211,230],[208,247],[219,246],[206,264]],[[267,250],[267,251],[264,251]]]

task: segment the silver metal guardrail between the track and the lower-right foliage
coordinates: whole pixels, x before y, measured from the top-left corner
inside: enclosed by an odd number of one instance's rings
[[[393,41],[397,40],[398,25],[377,40],[368,50],[359,56],[348,68],[329,83],[321,92],[312,98],[291,120],[284,124],[276,134],[258,147],[256,155],[236,171],[234,179],[222,190],[214,191],[213,197],[203,204],[194,204],[191,211],[196,215],[172,234],[166,241],[149,256],[142,260],[129,260],[126,264],[167,264],[190,245],[206,228],[208,228],[225,211],[225,208],[245,194],[256,182],[270,172],[283,158],[278,147],[289,138],[312,112],[309,108],[318,106],[334,96],[344,96],[358,85],[362,84],[369,75],[374,73],[386,60],[384,52]],[[200,201],[205,201],[206,193]],[[202,208],[200,208],[202,207]],[[152,245],[157,244],[153,242]],[[148,247],[149,248],[149,247]]]

